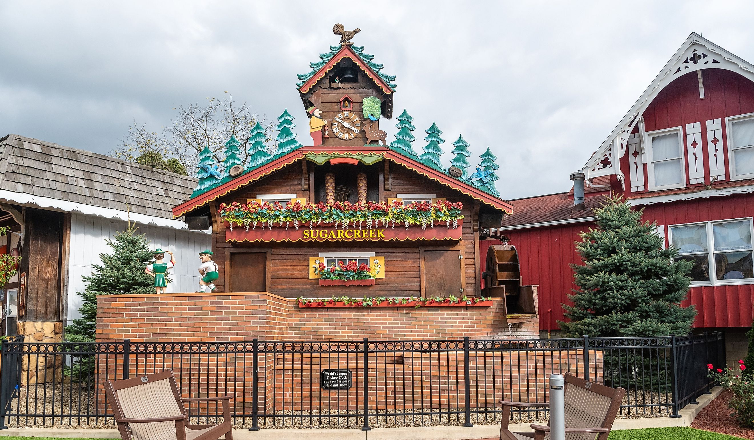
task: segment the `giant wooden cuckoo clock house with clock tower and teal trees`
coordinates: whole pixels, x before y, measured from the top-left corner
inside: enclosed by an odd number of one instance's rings
[[[298,298],[299,309],[475,309],[501,328],[529,322],[536,335],[536,286],[519,285],[515,250],[492,251],[508,295],[482,290],[489,246],[481,253],[480,243],[511,212],[495,188],[495,155],[488,149],[472,165],[463,136],[443,151],[436,124],[421,142],[406,110],[390,121],[395,77],[338,26],[340,44],[298,75],[302,107],[277,118],[277,148],[269,151],[258,127],[250,163],[233,163],[236,139],[231,160],[203,154],[197,190],[173,209],[211,225],[217,291]],[[290,131],[302,123],[311,139]],[[399,129],[392,142],[381,124]]]

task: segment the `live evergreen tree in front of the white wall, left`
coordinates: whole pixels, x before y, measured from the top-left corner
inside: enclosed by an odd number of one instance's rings
[[[93,343],[97,330],[97,295],[149,295],[155,293],[154,280],[144,273],[144,268],[153,261],[144,234],[137,234],[138,228],[129,224],[113,240],[106,240],[112,248],[110,254],[100,254],[102,264],[93,264],[93,272],[83,277],[87,283],[84,292],[78,292],[83,300],[78,311],[81,318],[74,319],[66,325],[66,342],[81,344]],[[75,381],[87,381],[96,365],[94,356],[74,358],[66,374]]]

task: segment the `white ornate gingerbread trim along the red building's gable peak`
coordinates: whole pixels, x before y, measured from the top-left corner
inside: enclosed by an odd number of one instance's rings
[[[619,178],[624,179],[618,167],[618,160],[627,149],[628,137],[639,121],[639,117],[654,97],[668,84],[685,73],[702,69],[725,69],[736,72],[749,81],[754,81],[754,65],[702,38],[696,32],[691,32],[691,35],[688,35],[679,50],[644,90],[642,96],[639,96],[639,99],[636,100],[621,123],[615,127],[610,136],[605,139],[605,142],[602,142],[602,145],[584,164],[582,172],[587,176],[587,179],[610,174],[617,174]]]

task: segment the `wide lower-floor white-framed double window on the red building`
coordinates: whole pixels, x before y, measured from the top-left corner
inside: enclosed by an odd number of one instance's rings
[[[694,264],[693,284],[754,283],[751,218],[671,226],[670,243]]]

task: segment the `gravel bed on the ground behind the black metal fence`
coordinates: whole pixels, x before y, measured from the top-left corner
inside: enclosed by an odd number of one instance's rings
[[[45,390],[46,388],[46,390]],[[64,390],[63,390],[64,389]],[[79,404],[79,393],[81,393],[81,404]],[[63,383],[52,387],[51,383],[44,385],[32,385],[29,387],[23,387],[19,390],[17,399],[11,404],[11,413],[13,414],[27,414],[27,407],[29,414],[57,414],[57,417],[36,417],[26,416],[11,417],[9,420],[9,426],[24,427],[24,426],[59,426],[59,427],[82,427],[87,428],[112,428],[112,418],[104,420],[103,417],[99,417],[99,420],[90,417],[88,420],[86,417],[79,419],[78,414],[102,414],[103,408],[100,402],[97,405],[97,390],[90,389],[86,386],[80,387],[78,383]],[[28,399],[28,405],[27,405]],[[624,398],[624,405],[660,405],[667,402],[664,393],[639,393],[636,391],[630,391]],[[727,407],[726,407],[727,408]],[[421,411],[419,409],[412,410],[407,408],[406,412]],[[425,411],[430,411],[427,408]],[[437,411],[437,408],[433,408],[431,411]],[[461,410],[462,411],[462,410]],[[464,414],[434,414],[431,416],[425,415],[406,415],[406,416],[392,416],[387,415],[386,411],[369,411],[370,414],[378,414],[369,417],[369,425],[372,427],[397,427],[397,426],[449,426],[449,425],[461,425],[464,423]],[[397,411],[400,412],[400,411]],[[60,417],[60,414],[65,414]],[[74,417],[70,417],[73,415]],[[386,414],[385,416],[379,414]],[[624,408],[621,413],[618,414],[619,418],[645,418],[645,417],[667,417],[672,414],[672,408],[665,408],[659,406],[645,407],[645,408]],[[308,415],[314,415],[319,417],[307,417]],[[363,417],[357,414],[357,411],[351,410],[332,410],[332,411],[306,411],[304,417],[302,411],[277,411],[276,417],[268,415],[267,417],[259,417],[259,426],[264,428],[360,428],[363,426]],[[284,416],[284,417],[281,417]],[[299,416],[299,417],[296,417]],[[339,417],[340,416],[340,417]],[[219,417],[222,420],[222,417]],[[498,424],[501,420],[500,413],[482,413],[471,414],[471,423],[475,425],[486,424]],[[527,414],[526,412],[511,414],[510,423],[541,423],[547,421],[547,414],[544,411],[537,411]],[[195,423],[207,423],[206,420],[200,420]],[[209,423],[216,423],[212,417]],[[236,417],[235,426],[237,428],[248,428],[251,426],[251,417]],[[754,439],[752,439],[754,440]]]

